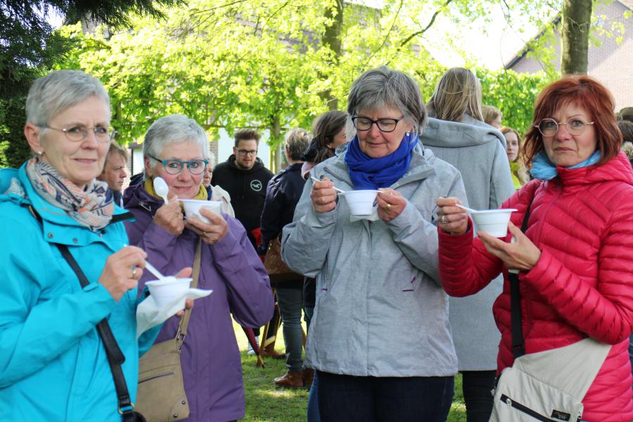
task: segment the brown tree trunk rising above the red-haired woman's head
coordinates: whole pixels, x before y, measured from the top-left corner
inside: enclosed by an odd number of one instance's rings
[[[561,55],[563,75],[586,75],[589,61],[589,27],[592,0],[564,0]]]

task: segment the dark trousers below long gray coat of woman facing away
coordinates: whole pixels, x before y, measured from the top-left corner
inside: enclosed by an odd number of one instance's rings
[[[497,371],[461,371],[467,422],[488,422],[492,414],[492,392]]]

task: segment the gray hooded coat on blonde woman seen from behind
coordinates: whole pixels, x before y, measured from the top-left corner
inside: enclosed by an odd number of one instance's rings
[[[437,157],[457,167],[475,210],[498,208],[514,193],[506,139],[499,130],[464,115],[462,122],[430,118],[421,136]],[[503,278],[494,279],[476,295],[450,298],[450,321],[460,371],[497,369],[501,334],[492,303],[501,294]]]

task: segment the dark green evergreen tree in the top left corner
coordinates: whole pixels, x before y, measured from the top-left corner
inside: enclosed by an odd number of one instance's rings
[[[66,23],[76,23],[89,16],[116,29],[129,25],[129,12],[160,18],[160,6],[170,4],[181,0],[0,0],[0,167],[14,167],[27,158],[23,141],[27,91],[33,79],[63,60],[73,47],[47,17],[59,13]]]

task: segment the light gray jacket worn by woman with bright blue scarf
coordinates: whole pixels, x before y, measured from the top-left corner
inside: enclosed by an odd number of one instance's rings
[[[314,167],[316,178],[352,190],[345,153]],[[316,277],[307,365],[352,376],[452,376],[457,359],[448,298],[439,284],[439,196],[466,200],[459,172],[418,144],[409,170],[390,186],[407,199],[390,222],[350,222],[340,196],[319,213],[305,184],[295,218],[283,229],[282,258]]]

